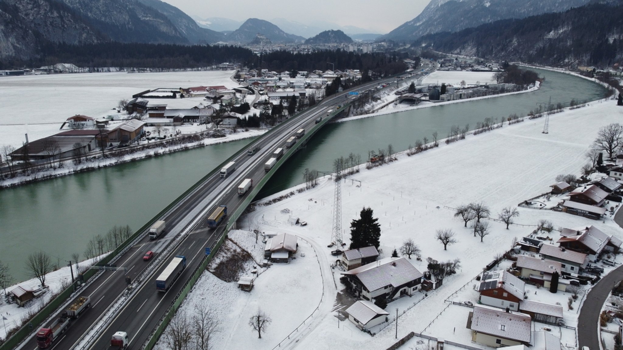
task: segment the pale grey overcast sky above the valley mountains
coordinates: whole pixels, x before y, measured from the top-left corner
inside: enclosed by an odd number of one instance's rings
[[[313,25],[314,21],[334,22],[340,26],[356,26],[386,34],[404,22],[414,19],[430,0],[163,0],[189,16],[201,19],[225,17],[245,21],[255,17],[292,19]]]

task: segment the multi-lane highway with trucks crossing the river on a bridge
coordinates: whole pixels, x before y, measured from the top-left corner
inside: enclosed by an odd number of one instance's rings
[[[434,65],[425,64],[422,68],[430,72],[434,70]],[[424,74],[420,72],[413,79],[416,80],[418,76],[421,77],[422,75]],[[395,77],[376,80],[359,85],[355,89],[367,90],[393,80]],[[226,228],[227,218],[222,220],[216,229],[209,229],[205,220],[206,209],[209,215],[214,208],[225,204],[227,211],[230,214],[233,213],[250,192],[247,191],[244,196],[238,196],[237,186],[240,182],[250,178],[253,179],[254,186],[259,183],[262,177],[266,175],[264,164],[272,156],[275,149],[281,147],[287,151],[285,142],[300,128],[304,128],[306,133],[312,131],[313,128],[320,128],[321,125],[315,123],[316,118],[319,116],[325,118],[329,110],[335,111],[338,105],[346,103],[348,97],[348,91],[333,95],[299,113],[299,115],[284,121],[277,126],[277,130],[258,138],[257,141],[248,146],[249,148],[259,146],[260,150],[257,153],[249,156],[244,151],[231,159],[236,163],[236,169],[231,175],[221,178],[216,172],[206,179],[201,186],[197,187],[196,191],[183,199],[178,207],[160,218],[166,220],[163,236],[149,240],[144,234],[142,239],[115,261],[117,267],[127,269],[125,272],[123,270],[105,271],[88,286],[75,293],[72,302],[78,296],[88,295],[92,298],[92,306],[90,310],[85,310],[80,318],[74,321],[64,334],[60,335],[58,340],[54,341],[50,349],[75,349],[83,338],[92,340],[89,349],[108,349],[110,337],[116,331],[127,332],[130,337],[130,347],[140,348],[140,345],[150,337],[151,331],[159,323],[159,319],[184,286],[184,281],[191,277],[201,262],[205,254],[205,247],[212,247]],[[197,159],[197,161],[201,161],[201,159]],[[165,205],[163,203],[163,206]],[[150,261],[145,262],[143,255],[148,250],[152,250],[155,256]],[[186,257],[186,268],[168,291],[156,291],[156,277],[168,265],[171,258],[176,255]],[[126,276],[131,278],[132,285],[135,286],[130,298],[108,320],[107,326],[98,329],[97,335],[88,335],[88,332],[95,327],[108,306],[112,305],[126,290]],[[60,316],[60,312],[59,310],[57,317]],[[36,331],[37,329],[33,329],[33,335]],[[24,346],[21,348],[38,349],[34,336],[23,344]]]

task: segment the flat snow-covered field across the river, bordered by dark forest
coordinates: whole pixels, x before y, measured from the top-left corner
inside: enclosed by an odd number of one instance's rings
[[[163,73],[76,73],[0,77],[0,145],[19,147],[28,133],[37,140],[59,132],[70,116],[82,114],[100,118],[121,99],[153,88],[237,85],[234,71]]]

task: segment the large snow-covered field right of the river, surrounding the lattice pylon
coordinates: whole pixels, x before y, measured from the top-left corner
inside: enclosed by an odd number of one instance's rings
[[[525,199],[547,192],[556,175],[578,174],[586,163],[584,154],[599,128],[621,120],[622,116],[623,110],[612,101],[593,102],[586,108],[551,116],[547,135],[541,133],[543,119],[526,120],[481,135],[468,135],[466,140],[457,143],[442,143],[439,148],[415,156],[399,154],[397,161],[380,168],[366,170],[362,166],[361,172],[353,179],[343,181],[342,227],[346,242],[350,238],[350,221],[356,219],[361,208],[366,206],[374,210],[374,216],[381,224],[382,257],[388,257],[394,248],[411,238],[421,248],[423,260],[427,257],[439,261],[461,260],[458,273],[445,278],[444,286],[439,290],[426,297],[401,298],[388,305],[386,310],[391,311],[391,321],[394,310],[399,309],[399,338],[410,331],[424,331],[430,336],[479,347],[471,343],[470,332],[465,329],[468,309],[452,306],[445,310],[448,304],[444,300],[452,295],[456,298],[455,291],[462,290],[465,294],[458,297],[460,301],[475,302],[476,296],[470,291],[473,278],[493,260],[494,255],[508,250],[514,237],[530,234],[540,219],[551,220],[556,228],[596,225],[607,234],[623,237],[623,230],[611,217],[601,222],[551,210],[518,208],[520,216],[508,230],[502,223],[488,220],[491,234],[481,243],[480,237],[473,237],[462,220],[454,217],[452,209],[460,204],[482,201],[490,207],[492,217],[497,217],[504,207],[515,207]],[[326,247],[331,240],[333,186],[333,182],[325,177],[315,189],[269,206],[257,206],[257,210],[240,220],[240,231],[234,234],[239,240],[253,241],[254,236],[249,232],[253,229],[296,234],[300,237],[300,252],[305,253],[305,257],[297,253],[296,260],[289,265],[273,264],[257,278],[250,293],[237,290],[235,283],[225,283],[211,273],[202,277],[202,284],[196,290],[201,290],[202,295],[219,296],[211,301],[212,307],[219,310],[223,325],[221,333],[213,338],[215,348],[244,344],[262,349],[279,345],[285,349],[384,349],[394,343],[394,323],[374,337],[359,331],[349,321],[341,322],[338,328],[336,309],[348,305],[348,298],[338,296],[337,292],[343,289],[338,280],[340,271],[329,267],[335,257],[330,255],[331,248]],[[289,191],[292,189],[286,192]],[[281,194],[283,192],[272,197]],[[308,225],[292,225],[288,222],[292,217],[305,220]],[[433,238],[437,229],[454,230],[459,242],[444,250],[443,245]],[[313,263],[303,265],[310,260]],[[426,263],[415,259],[412,263],[419,270],[426,270]],[[292,285],[292,280],[299,283]],[[319,295],[323,291],[325,296],[320,301]],[[548,292],[542,290],[541,293]],[[275,297],[278,297],[278,303],[275,303]],[[191,301],[186,302],[188,308],[192,307],[194,298],[201,296],[192,296]],[[557,298],[566,305],[568,295],[564,293],[543,295],[543,301],[550,303],[555,303]],[[223,300],[227,302],[223,303]],[[318,310],[312,315],[313,307],[319,302]],[[257,334],[246,324],[257,307],[273,319],[262,339],[257,339]],[[578,302],[574,307],[574,311],[565,308],[569,325],[573,325],[577,318]],[[305,324],[300,324],[310,315]],[[439,319],[432,322],[438,315]],[[238,321],[232,323],[232,319]],[[294,333],[288,339],[292,331]],[[571,348],[576,343],[573,331],[553,327],[552,332],[562,336],[564,346]],[[415,340],[413,344],[416,345]]]

